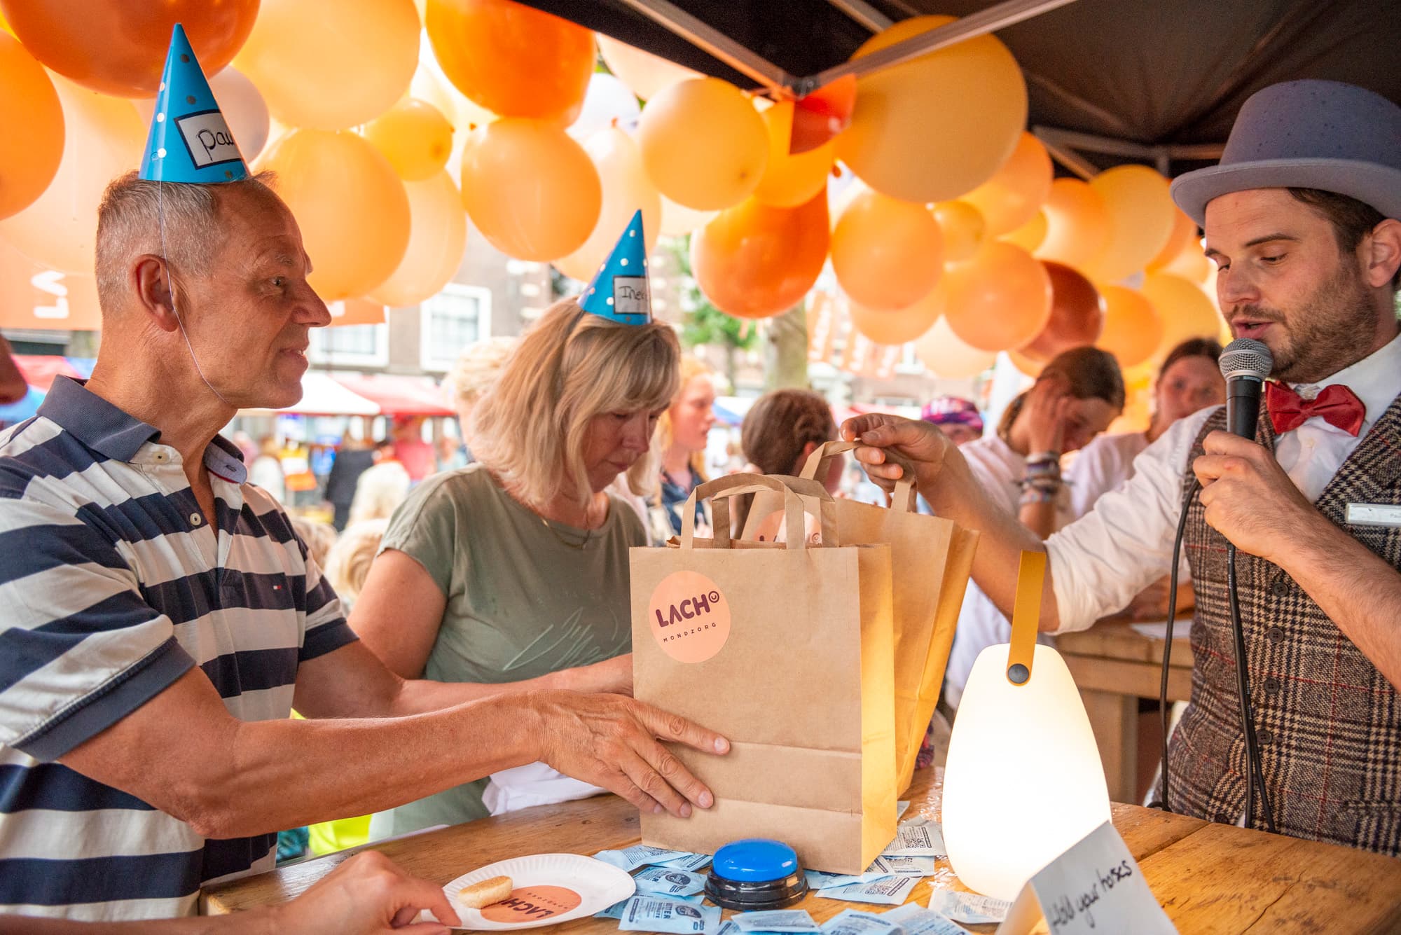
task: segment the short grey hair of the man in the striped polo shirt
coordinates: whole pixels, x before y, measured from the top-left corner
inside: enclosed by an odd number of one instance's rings
[[[97,209],[97,297],[102,311],[112,312],[122,305],[127,267],[143,253],[164,256],[177,273],[205,274],[223,241],[220,195],[235,188],[256,188],[276,199],[273,181],[272,172],[221,185],[151,182],[136,172],[113,179]]]

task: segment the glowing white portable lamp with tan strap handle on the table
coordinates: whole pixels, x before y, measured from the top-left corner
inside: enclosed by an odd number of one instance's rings
[[[1110,792],[1080,691],[1037,644],[1044,551],[1023,551],[1012,642],[968,676],[944,767],[944,845],[969,889],[1013,900],[1042,866],[1110,820]]]

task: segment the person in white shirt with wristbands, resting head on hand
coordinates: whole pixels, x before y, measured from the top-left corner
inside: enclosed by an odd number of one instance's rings
[[[1112,354],[1076,347],[1056,356],[1035,385],[1012,400],[996,433],[960,451],[984,491],[1045,539],[1072,518],[1061,455],[1084,447],[1122,410],[1124,377]],[[944,669],[950,708],[958,707],[978,654],[1010,638],[1007,616],[969,584]]]

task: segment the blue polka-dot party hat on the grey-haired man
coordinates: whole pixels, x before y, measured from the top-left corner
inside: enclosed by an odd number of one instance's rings
[[[178,22],[156,95],[142,178],[206,185],[248,178],[248,165]]]

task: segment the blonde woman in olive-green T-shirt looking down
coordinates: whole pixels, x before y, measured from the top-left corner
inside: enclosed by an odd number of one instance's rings
[[[678,358],[667,325],[551,307],[476,406],[478,463],[427,479],[389,521],[350,619],[366,645],[406,677],[630,691],[628,549],[647,539],[605,490],[654,483]],[[483,788],[375,816],[374,834],[482,817]]]

